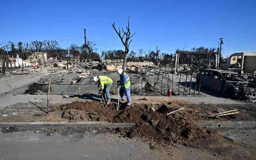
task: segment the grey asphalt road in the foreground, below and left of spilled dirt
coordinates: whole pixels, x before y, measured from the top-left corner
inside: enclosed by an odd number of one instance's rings
[[[184,146],[172,147],[171,151],[151,150],[140,139],[119,138],[118,135],[97,133],[72,133],[61,135],[33,131],[0,133],[0,159],[217,159],[207,151]],[[169,155],[168,155],[169,154]]]

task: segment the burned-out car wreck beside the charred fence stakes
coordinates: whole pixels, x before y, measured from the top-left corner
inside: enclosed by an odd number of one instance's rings
[[[255,99],[256,84],[250,83],[235,72],[226,70],[203,69],[197,74],[196,81],[201,86],[219,92],[224,98]]]

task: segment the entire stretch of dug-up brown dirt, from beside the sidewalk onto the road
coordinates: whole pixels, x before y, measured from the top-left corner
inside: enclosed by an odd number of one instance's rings
[[[156,104],[155,104],[156,105]],[[54,111],[62,113],[62,118],[69,121],[107,121],[110,123],[135,123],[132,128],[121,128],[124,136],[133,138],[135,136],[144,140],[151,140],[154,144],[164,145],[173,142],[184,143],[202,138],[209,138],[215,135],[207,128],[200,128],[193,124],[189,116],[180,114],[166,115],[163,113],[177,109],[166,105],[157,106],[154,111],[152,104],[133,104],[128,109],[117,111],[116,104],[111,103],[108,106],[109,111],[105,109],[102,103],[95,101],[73,102],[55,106]]]

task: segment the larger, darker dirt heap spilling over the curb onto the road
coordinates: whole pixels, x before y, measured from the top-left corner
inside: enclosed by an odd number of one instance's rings
[[[116,123],[135,123],[134,127],[125,129],[128,137],[137,135],[143,139],[154,140],[158,144],[185,142],[214,135],[211,130],[194,125],[187,117],[159,113],[159,111],[163,112],[164,108],[171,109],[162,106],[153,111],[147,105],[140,107],[136,104],[119,113],[113,121]]]

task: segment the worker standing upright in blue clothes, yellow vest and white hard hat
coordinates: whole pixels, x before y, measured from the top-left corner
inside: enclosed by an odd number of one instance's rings
[[[121,96],[121,101],[124,101],[125,96],[124,94],[126,94],[126,98],[127,98],[127,106],[131,106],[132,100],[131,100],[131,82],[130,82],[130,78],[129,76],[123,72],[123,69],[118,69],[117,73],[120,75],[120,84],[121,84],[121,88],[120,88],[120,96]],[[117,82],[117,83],[119,83]]]

